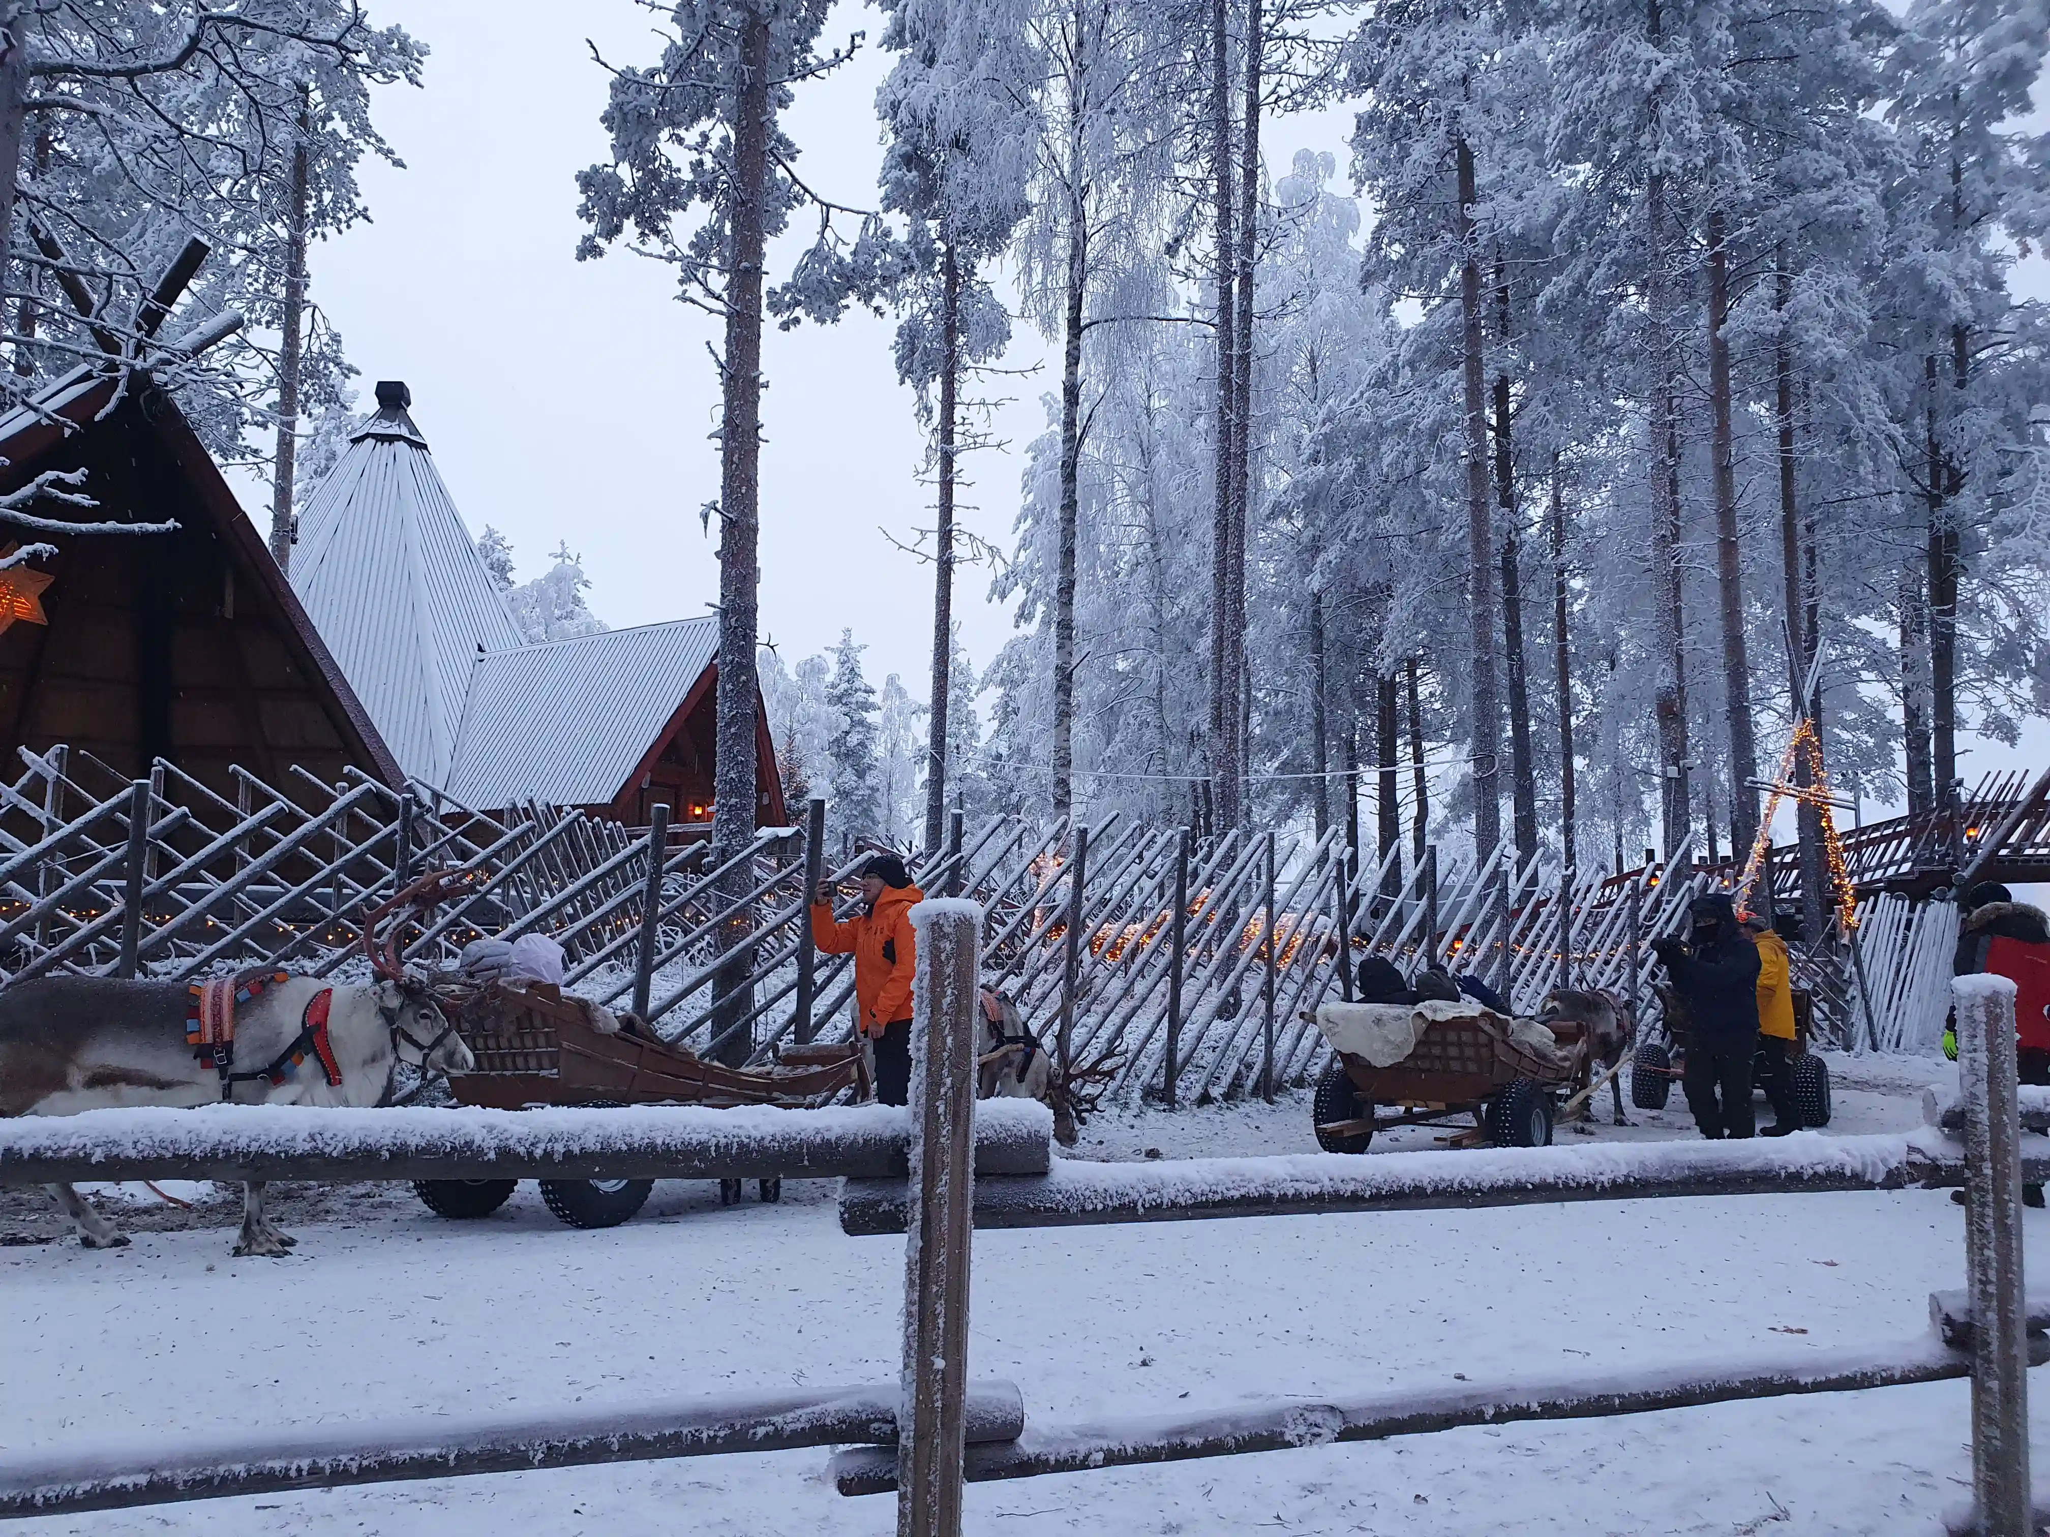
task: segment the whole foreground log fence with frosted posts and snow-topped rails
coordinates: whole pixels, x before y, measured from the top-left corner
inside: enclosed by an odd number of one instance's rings
[[[1954,984],[1960,1035],[1960,1098],[1964,1105],[1964,1158],[1931,1127],[1909,1137],[1853,1137],[1829,1141],[1796,1137],[1775,1148],[1574,1148],[1517,1154],[1419,1152],[1343,1158],[1337,1154],[1271,1160],[1210,1160],[1187,1170],[1086,1170],[1048,1164],[1043,1178],[988,1178],[976,1191],[980,1158],[957,1156],[976,1139],[976,1123],[1027,1129],[1043,1152],[1050,1117],[1037,1107],[976,1105],[978,1008],[974,998],[980,955],[978,910],[963,902],[935,902],[920,914],[918,1010],[914,1031],[910,1113],[867,1111],[529,1111],[506,1117],[463,1111],[109,1111],[68,1121],[14,1121],[4,1127],[0,1160],[12,1160],[20,1178],[49,1178],[82,1160],[102,1174],[125,1168],[123,1158],[158,1154],[207,1156],[221,1135],[262,1146],[266,1156],[303,1158],[299,1176],[316,1164],[355,1176],[351,1158],[359,1141],[385,1148],[439,1150],[467,1146],[447,1168],[453,1176],[527,1172],[517,1158],[545,1156],[551,1172],[584,1172],[564,1148],[603,1144],[605,1156],[625,1158],[621,1144],[660,1133],[662,1158],[676,1156],[676,1127],[693,1129],[701,1144],[717,1144],[722,1158],[734,1148],[777,1139],[787,1115],[826,1117],[830,1127],[812,1141],[853,1141],[886,1121],[908,1133],[904,1144],[910,1182],[904,1205],[916,1213],[906,1240],[904,1379],[892,1424],[879,1424],[884,1396],[840,1396],[824,1402],[732,1406],[633,1406],[611,1412],[556,1412],[533,1422],[437,1422],[320,1430],[312,1439],[236,1443],[166,1455],[150,1449],[100,1449],[74,1457],[0,1463],[0,1517],[148,1504],[266,1488],[310,1488],[387,1478],[441,1478],[512,1467],[549,1467],[576,1461],[627,1461],[707,1451],[767,1449],[896,1439],[894,1451],[843,1451],[834,1463],[838,1488],[849,1494],[898,1490],[898,1529],[914,1537],[959,1537],[963,1480],[1027,1478],[1084,1471],[1121,1463],[1240,1455],[1283,1447],[1419,1435],[1460,1424],[1533,1418],[1587,1418],[1712,1404],[1732,1398],[1849,1391],[1892,1383],[1972,1379],[1972,1459],[1976,1512],[1954,1531],[2019,1537],[2027,1529],[2027,1365],[2050,1359],[2044,1322],[2050,1301],[2029,1303],[2021,1275],[2021,1096],[2015,1084],[2015,988],[1999,978],[1960,978]],[[121,1119],[129,1117],[129,1119]],[[141,1117],[141,1119],[135,1119]],[[1941,1119],[1941,1113],[1937,1113]],[[332,1131],[314,1129],[322,1121]],[[394,1127],[389,1133],[377,1123]],[[525,1125],[531,1125],[529,1133]],[[713,1125],[738,1127],[715,1133]],[[435,1131],[435,1129],[441,1131]],[[609,1129],[617,1127],[617,1129]],[[621,1131],[623,1129],[623,1131]],[[109,1148],[109,1139],[119,1146]],[[152,1144],[150,1139],[156,1139]],[[806,1139],[806,1137],[799,1137]],[[689,1141],[689,1137],[685,1137]],[[310,1144],[310,1146],[308,1146]],[[471,1144],[484,1144],[471,1146]],[[517,1146],[519,1152],[510,1152]],[[105,1154],[92,1160],[90,1154]],[[488,1154],[488,1156],[486,1156]],[[951,1154],[951,1156],[949,1156]],[[49,1156],[41,1166],[31,1160]],[[408,1154],[410,1156],[410,1154]],[[871,1150],[861,1158],[871,1156]],[[732,1168],[732,1164],[713,1168]],[[615,1164],[592,1162],[611,1170]],[[633,1172],[664,1172],[652,1162]],[[752,1172],[754,1164],[744,1164]],[[398,1172],[398,1160],[385,1164]],[[180,1172],[180,1170],[164,1170]],[[187,1166],[182,1172],[193,1172]],[[2046,1170],[2029,1166],[2027,1172]],[[1886,1351],[1802,1353],[1798,1361],[1755,1361],[1730,1367],[1663,1367],[1634,1375],[1591,1375],[1548,1385],[1433,1387],[1363,1400],[1263,1400],[1203,1414],[1134,1420],[1111,1426],[1029,1426],[1023,1406],[1013,1414],[1004,1400],[1000,1437],[978,1443],[974,1389],[968,1387],[966,1287],[974,1221],[996,1187],[1046,1191],[1066,1187],[1052,1219],[1173,1219],[1218,1215],[1205,1203],[1228,1203],[1246,1215],[1248,1203],[1273,1211],[1357,1211],[1388,1205],[1494,1205],[1503,1201],[1630,1199],[1638,1195],[1738,1195],[1761,1189],[1890,1189],[1911,1180],[1945,1182],[1962,1176],[1966,1209],[1966,1291],[1931,1299],[1933,1342]],[[1138,1189],[1138,1201],[1130,1199]],[[1105,1199],[1105,1191],[1115,1199]],[[1113,1211],[1115,1209],[1115,1211]],[[998,1398],[1007,1389],[990,1389]],[[834,1404],[838,1406],[834,1410]],[[838,1418],[834,1418],[838,1414]],[[904,1416],[910,1435],[902,1435]],[[855,1420],[855,1422],[851,1422]]]

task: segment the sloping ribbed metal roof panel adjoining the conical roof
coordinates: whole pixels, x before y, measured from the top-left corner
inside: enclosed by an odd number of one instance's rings
[[[609,801],[717,656],[713,617],[480,656],[449,795],[484,812]]]

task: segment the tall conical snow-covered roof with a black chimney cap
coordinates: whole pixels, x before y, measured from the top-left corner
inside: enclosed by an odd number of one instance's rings
[[[400,766],[447,785],[480,652],[523,635],[410,404],[404,383],[377,385],[377,414],[299,518],[291,584]]]

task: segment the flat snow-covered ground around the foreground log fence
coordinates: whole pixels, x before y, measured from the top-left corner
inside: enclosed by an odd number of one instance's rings
[[[1945,1064],[1870,1066],[1841,1066],[1831,1131],[1919,1125],[1919,1088],[1941,1082]],[[1603,1103],[1591,1135],[1691,1135],[1677,1094],[1663,1113],[1630,1117],[1634,1127],[1609,1127]],[[1433,1135],[1382,1141],[1429,1148]],[[1078,1154],[1312,1148],[1298,1094],[1111,1117]],[[843,1236],[830,1182],[789,1182],[777,1207],[750,1191],[732,1209],[711,1185],[666,1182],[631,1223],[597,1234],[562,1228],[531,1187],[478,1223],[430,1217],[402,1189],[287,1193],[291,1260],[228,1256],[240,1207],[228,1193],[195,1213],[121,1199],[135,1242],[98,1254],[45,1242],[59,1228],[37,1201],[0,1193],[0,1459],[182,1430],[896,1375],[902,1242]],[[2025,1213],[2025,1234],[2040,1271],[2050,1215]],[[986,1232],[972,1373],[1021,1383],[1027,1414],[1046,1424],[1455,1373],[1554,1377],[1919,1338],[1927,1293],[1962,1275],[1962,1213],[1923,1191]],[[1004,1537],[1935,1531],[1970,1476],[1966,1398],[1964,1383],[1939,1383],[972,1486],[968,1527]],[[2050,1467],[2050,1437],[2036,1455]],[[638,1463],[16,1529],[894,1529],[892,1500],[836,1496],[824,1465],[822,1451]]]

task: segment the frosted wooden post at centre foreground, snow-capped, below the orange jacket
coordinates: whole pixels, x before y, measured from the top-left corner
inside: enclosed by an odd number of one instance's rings
[[[910,920],[918,930],[918,973],[910,1033],[898,1537],[959,1537],[982,908],[920,902]]]

